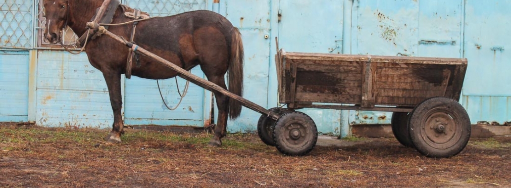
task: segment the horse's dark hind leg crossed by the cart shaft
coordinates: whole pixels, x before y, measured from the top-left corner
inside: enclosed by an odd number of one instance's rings
[[[219,76],[215,79],[210,79],[211,82],[217,84],[218,86],[227,89],[225,86],[224,77]],[[217,108],[218,108],[218,119],[217,119],[217,125],[215,126],[215,135],[213,135],[213,138],[211,138],[209,146],[221,146],[222,145],[222,137],[226,135],[226,128],[227,128],[227,117],[228,117],[228,111],[229,111],[229,98],[225,95],[223,95],[221,92],[213,91],[215,94],[215,100],[217,102]]]

